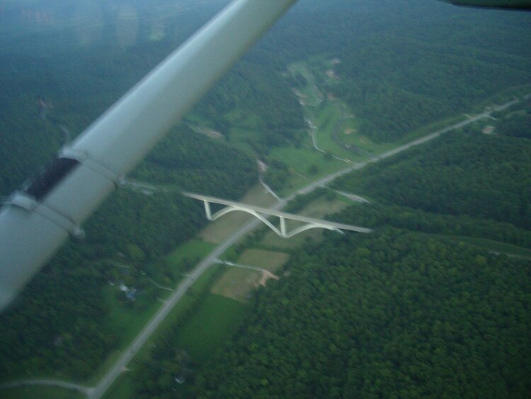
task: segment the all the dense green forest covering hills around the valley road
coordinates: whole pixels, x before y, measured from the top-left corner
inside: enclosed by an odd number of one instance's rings
[[[134,2],[145,15],[127,45],[115,37],[109,4],[88,42],[74,25],[15,34],[0,23],[2,196],[227,3],[166,16],[156,11],[165,1],[151,11]],[[6,15],[1,9],[0,22]],[[153,21],[164,28],[160,40]],[[301,0],[129,176],[153,192],[118,189],[85,223],[86,239],[65,245],[0,315],[0,379],[85,383],[127,344],[122,317],[154,312],[160,291],[148,278],[175,286],[183,270],[166,255],[207,223],[181,190],[239,199],[256,184],[257,158],[283,187],[292,171],[270,152],[307,138],[293,92],[307,82],[287,76],[292,62],[341,60],[338,79],[316,76],[319,87],[348,105],[360,133],[396,144],[530,84],[530,21],[438,1]],[[526,397],[530,262],[455,237],[531,248],[529,109],[527,101],[494,115],[491,135],[471,125],[337,181],[333,189],[370,204],[327,218],[375,234],[328,234],[293,249],[289,275],[257,291],[206,364],[159,339],[142,367],[164,384],[139,379],[137,397],[173,398],[176,373],[188,377],[185,398]],[[308,172],[302,178],[312,179]],[[333,191],[316,191],[287,210],[327,196]],[[137,288],[136,300],[122,283]]]

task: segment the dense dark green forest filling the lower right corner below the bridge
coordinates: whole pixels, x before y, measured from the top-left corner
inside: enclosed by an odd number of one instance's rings
[[[531,389],[523,261],[392,229],[329,235],[291,259],[290,276],[260,291],[186,397],[523,398]]]

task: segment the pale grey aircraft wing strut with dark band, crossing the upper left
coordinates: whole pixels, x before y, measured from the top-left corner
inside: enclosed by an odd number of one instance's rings
[[[0,209],[0,311],[296,0],[234,0]]]

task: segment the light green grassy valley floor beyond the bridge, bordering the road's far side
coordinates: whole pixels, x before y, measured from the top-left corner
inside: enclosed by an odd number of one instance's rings
[[[396,142],[376,144],[368,137],[358,133],[361,120],[356,118],[355,110],[350,109],[341,99],[329,98],[327,95],[326,86],[341,82],[341,77],[327,76],[326,72],[333,70],[333,67],[333,60],[327,60],[324,57],[313,57],[306,62],[290,64],[288,67],[288,73],[292,77],[300,75],[306,81],[304,86],[297,86],[293,89],[299,96],[304,114],[318,128],[316,131],[317,146],[329,154],[326,156],[322,152],[315,150],[309,135],[297,147],[276,147],[271,149],[270,154],[287,164],[290,168],[290,177],[284,189],[280,191],[281,195],[287,195],[308,184],[309,181],[341,169],[341,167],[348,164],[332,158],[331,155],[341,159],[348,159],[351,162],[365,161],[369,157],[375,157],[392,150],[394,147],[411,142],[418,137],[434,133],[448,125],[460,122],[465,118],[459,113],[411,131],[411,133],[404,135]],[[316,79],[316,77],[319,79]],[[510,88],[481,101],[473,109],[463,111],[469,113],[484,111],[486,105],[502,103],[510,100],[513,95],[525,94],[530,91],[530,85]],[[337,134],[336,140],[333,137],[335,131]],[[343,145],[336,141],[357,147],[359,151],[344,148]]]

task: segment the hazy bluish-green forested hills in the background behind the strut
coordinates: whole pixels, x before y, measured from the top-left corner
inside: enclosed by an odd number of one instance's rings
[[[98,6],[103,28],[88,42],[75,24],[35,28],[27,21],[29,33],[10,30],[20,18],[16,11],[22,11],[13,7],[8,21],[6,6],[0,193],[8,194],[51,159],[64,143],[61,125],[75,137],[224,3],[212,1],[173,17],[156,12],[164,0],[152,11],[137,4],[137,35],[127,45],[116,37],[118,22],[108,6]],[[151,39],[156,18],[166,31],[161,40]],[[326,90],[361,118],[361,133],[394,141],[531,82],[528,24],[527,14],[457,9],[437,1],[301,1],[195,107],[190,120],[245,142],[255,154],[297,143],[302,111],[289,86],[295,82],[281,73],[290,62],[326,55],[341,60],[340,79]],[[13,36],[16,45],[8,40]],[[244,137],[234,133],[242,127]]]

